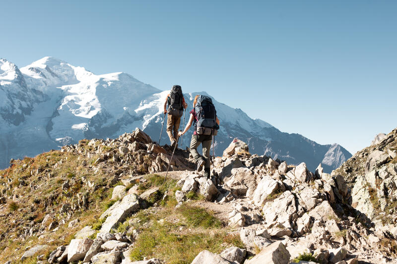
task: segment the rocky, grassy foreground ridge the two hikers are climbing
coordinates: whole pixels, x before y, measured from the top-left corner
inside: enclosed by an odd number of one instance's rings
[[[233,140],[212,179],[182,150],[165,179],[170,154],[135,129],[12,160],[0,172],[0,263],[397,263],[397,234],[352,206],[336,171]]]

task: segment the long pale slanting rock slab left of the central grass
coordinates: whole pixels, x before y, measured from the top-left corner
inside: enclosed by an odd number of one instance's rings
[[[100,232],[110,232],[110,230],[120,222],[126,219],[128,215],[139,210],[138,197],[134,194],[126,195],[121,203],[114,204],[111,214],[102,224]],[[112,208],[111,207],[111,208]],[[109,208],[110,209],[110,208]]]

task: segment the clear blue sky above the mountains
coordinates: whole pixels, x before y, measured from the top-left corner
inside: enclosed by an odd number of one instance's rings
[[[348,151],[397,127],[397,2],[1,1],[0,57],[206,91]]]

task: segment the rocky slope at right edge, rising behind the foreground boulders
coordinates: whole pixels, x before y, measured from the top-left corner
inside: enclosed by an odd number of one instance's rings
[[[353,207],[377,229],[397,235],[397,128],[378,135],[332,174],[343,175],[352,188]]]

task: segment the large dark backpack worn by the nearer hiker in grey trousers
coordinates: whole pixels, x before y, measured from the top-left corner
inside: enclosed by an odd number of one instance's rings
[[[200,95],[195,106],[197,121],[195,130],[198,135],[216,135],[219,126],[216,123],[216,110],[212,104],[212,99],[208,96]]]

